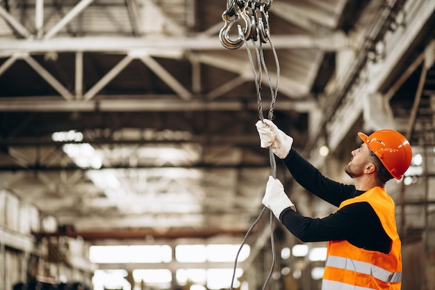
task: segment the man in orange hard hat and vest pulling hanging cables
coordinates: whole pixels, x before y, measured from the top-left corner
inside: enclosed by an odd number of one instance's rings
[[[261,147],[272,147],[294,179],[306,190],[338,207],[325,218],[309,218],[294,209],[279,180],[269,177],[263,204],[304,242],[329,241],[322,290],[399,290],[402,278],[401,243],[395,205],[385,184],[401,179],[411,164],[411,145],[393,130],[370,136],[359,133],[361,147],[345,167],[354,185],[324,177],[292,148],[293,138],[270,120],[258,121]]]

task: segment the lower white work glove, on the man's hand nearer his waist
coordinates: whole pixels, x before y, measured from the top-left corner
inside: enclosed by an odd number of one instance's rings
[[[288,207],[296,211],[295,204],[291,202],[284,192],[284,186],[272,176],[269,177],[268,184],[266,184],[266,192],[261,203],[270,209],[278,219],[281,212]]]

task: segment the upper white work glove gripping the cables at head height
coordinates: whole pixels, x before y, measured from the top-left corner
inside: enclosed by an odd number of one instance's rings
[[[261,147],[272,147],[272,152],[280,159],[286,158],[293,145],[293,138],[278,129],[277,125],[268,119],[259,120],[255,126],[260,135]]]

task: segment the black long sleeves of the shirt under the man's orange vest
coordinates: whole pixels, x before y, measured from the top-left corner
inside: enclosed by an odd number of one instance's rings
[[[324,177],[293,149],[283,161],[300,185],[336,207],[344,200],[364,193],[357,191],[353,185],[340,184]],[[347,240],[358,248],[384,253],[391,248],[391,239],[368,202],[348,204],[325,218],[301,216],[288,208],[281,212],[279,219],[304,242]]]

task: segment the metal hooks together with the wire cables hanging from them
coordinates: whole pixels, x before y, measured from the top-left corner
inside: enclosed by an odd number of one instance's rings
[[[238,8],[241,8],[241,10],[235,8],[236,3]],[[280,74],[277,52],[274,49],[272,42],[270,41],[270,34],[269,34],[268,9],[270,8],[271,4],[272,4],[272,0],[268,0],[267,3],[261,2],[261,0],[253,0],[253,1],[228,0],[227,10],[225,10],[224,13],[222,14],[222,19],[224,19],[225,25],[220,31],[220,41],[222,45],[224,45],[224,47],[227,47],[228,49],[238,49],[242,45],[245,45],[245,47],[247,48],[249,63],[251,64],[252,72],[254,74],[256,98],[258,103],[258,118],[262,121],[264,120],[263,106],[262,106],[262,99],[261,99],[262,71],[264,70],[266,76],[268,76],[270,93],[272,95],[272,100],[270,102],[270,108],[268,111],[269,120],[272,120],[274,117],[273,111],[278,95],[278,84],[279,84],[279,74]],[[259,14],[259,17],[257,17],[257,13]],[[230,19],[230,17],[232,18]],[[238,24],[238,39],[231,40],[229,38],[229,33],[233,28],[233,26],[236,24],[236,22],[238,22],[240,17],[243,19],[245,23],[245,28],[243,28],[242,26],[240,26],[240,24]],[[260,40],[259,46],[256,44],[256,40],[258,40],[258,38]],[[252,44],[256,52],[256,60],[257,60],[256,65],[252,57],[252,51],[248,45],[248,40],[252,40]],[[274,85],[272,83],[272,77],[270,76],[270,73],[268,71],[268,67],[265,63],[265,58],[263,54],[262,44],[267,42],[270,44],[270,47],[274,55],[274,61],[277,67],[277,81]],[[271,175],[272,177],[276,178],[277,164],[274,158],[274,154],[272,152],[272,148],[269,149],[269,161],[270,161]],[[236,254],[236,259],[234,261],[233,277],[231,279],[231,287],[230,287],[231,290],[233,290],[233,283],[236,278],[237,262],[238,262],[238,256],[240,254],[240,251],[242,250],[243,245],[245,245],[249,234],[252,232],[252,229],[254,229],[258,221],[263,216],[265,209],[267,209],[267,207],[263,207],[263,209],[261,209],[260,214],[258,214],[258,217],[256,218],[256,220],[254,220],[254,223],[252,223],[251,227],[249,227],[249,229],[245,234],[245,237],[243,238],[242,243],[240,244],[240,248],[238,249],[238,252]],[[270,243],[272,247],[272,265],[270,267],[268,277],[266,277],[265,283],[263,284],[263,290],[265,290],[265,288],[268,285],[268,282],[270,281],[270,277],[272,277],[274,264],[276,261],[275,243],[274,243],[274,234],[273,234],[273,220],[274,220],[273,214],[272,211],[270,211]]]

